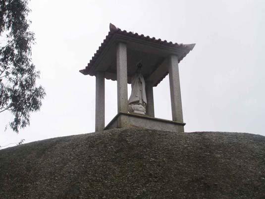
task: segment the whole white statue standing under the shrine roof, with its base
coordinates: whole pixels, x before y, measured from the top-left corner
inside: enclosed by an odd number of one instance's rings
[[[132,78],[132,93],[128,100],[128,110],[130,113],[146,114],[146,86],[145,79],[141,74],[142,64],[137,64],[137,71]]]

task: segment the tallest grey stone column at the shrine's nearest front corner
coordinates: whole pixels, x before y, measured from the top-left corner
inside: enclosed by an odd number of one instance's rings
[[[118,113],[128,112],[127,91],[127,47],[124,43],[117,44],[117,99]]]

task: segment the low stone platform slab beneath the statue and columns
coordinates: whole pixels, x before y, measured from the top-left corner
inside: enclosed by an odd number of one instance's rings
[[[119,112],[108,125],[106,125],[104,130],[121,127],[141,127],[161,131],[184,132],[185,124],[186,123],[149,117],[142,114]]]

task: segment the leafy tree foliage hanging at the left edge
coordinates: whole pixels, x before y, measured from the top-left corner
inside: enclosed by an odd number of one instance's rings
[[[10,128],[30,124],[30,113],[40,110],[45,91],[36,85],[40,72],[31,59],[35,36],[29,30],[28,0],[0,0],[0,112],[10,111]]]

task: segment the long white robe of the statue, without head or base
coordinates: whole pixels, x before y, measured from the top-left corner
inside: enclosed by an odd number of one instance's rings
[[[132,79],[132,93],[129,104],[147,104],[145,79],[141,73],[136,73]]]

